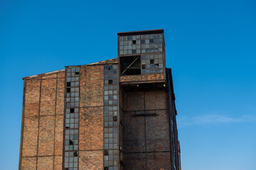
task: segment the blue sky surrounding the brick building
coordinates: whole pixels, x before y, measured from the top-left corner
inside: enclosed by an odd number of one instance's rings
[[[256,169],[256,1],[0,0],[0,169],[18,169],[23,80],[117,57],[164,28],[183,170]]]

